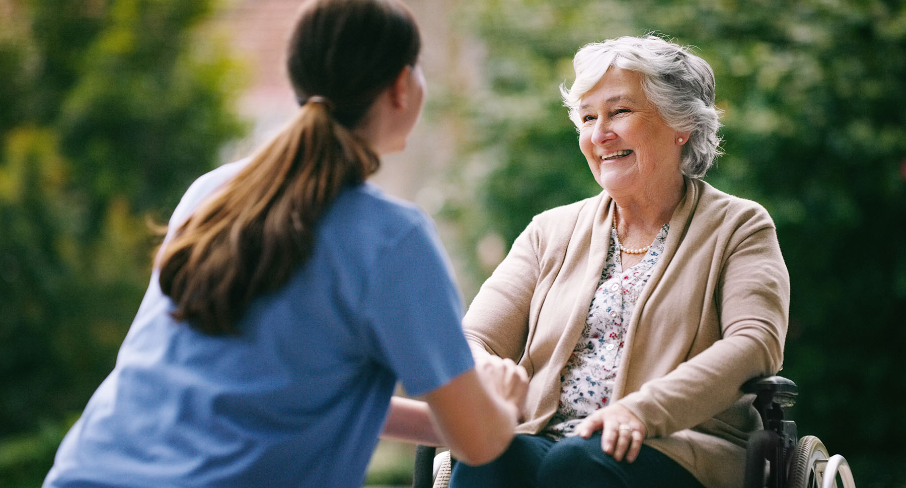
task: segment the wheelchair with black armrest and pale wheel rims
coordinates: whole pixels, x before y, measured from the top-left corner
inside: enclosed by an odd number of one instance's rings
[[[764,430],[749,436],[743,488],[855,488],[853,472],[840,454],[830,455],[814,435],[800,438],[784,408],[795,405],[798,388],[783,376],[753,378],[742,387],[754,394]],[[449,452],[416,447],[413,488],[447,488]],[[838,483],[839,481],[839,483]]]

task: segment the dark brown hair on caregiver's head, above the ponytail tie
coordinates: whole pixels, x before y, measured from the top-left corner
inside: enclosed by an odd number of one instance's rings
[[[406,65],[418,61],[419,28],[400,0],[309,0],[299,12],[287,68],[300,103],[328,104],[352,128]]]

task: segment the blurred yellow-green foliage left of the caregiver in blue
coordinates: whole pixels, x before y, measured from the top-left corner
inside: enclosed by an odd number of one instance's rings
[[[0,0],[0,478],[9,483],[24,469],[15,460],[28,458],[9,446],[50,432],[53,454],[58,425],[113,366],[149,279],[146,216],[162,222],[243,128],[227,109],[236,66],[196,35],[213,7]]]

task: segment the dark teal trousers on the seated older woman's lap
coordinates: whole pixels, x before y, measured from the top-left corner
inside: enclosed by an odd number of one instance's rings
[[[688,471],[660,451],[641,446],[633,463],[617,463],[601,450],[601,434],[554,441],[519,434],[496,460],[457,463],[450,488],[702,488]]]

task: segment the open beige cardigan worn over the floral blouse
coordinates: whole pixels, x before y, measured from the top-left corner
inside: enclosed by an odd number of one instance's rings
[[[739,387],[782,365],[789,276],[766,210],[704,181],[686,188],[629,323],[613,398],[645,423],[646,444],[708,488],[738,488],[747,436],[761,425]],[[612,211],[602,192],[537,215],[468,309],[470,346],[528,371],[519,433],[537,434],[557,408]]]

